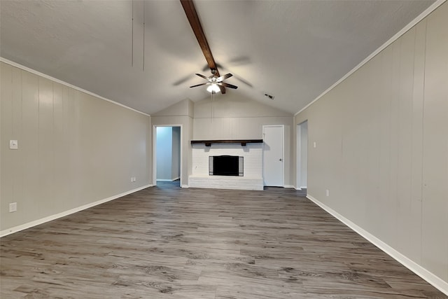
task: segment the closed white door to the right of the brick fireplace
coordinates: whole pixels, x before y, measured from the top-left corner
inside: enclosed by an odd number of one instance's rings
[[[263,126],[263,181],[283,187],[283,125]]]

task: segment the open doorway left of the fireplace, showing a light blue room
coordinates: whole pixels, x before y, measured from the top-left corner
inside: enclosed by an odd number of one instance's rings
[[[155,126],[154,141],[154,185],[181,186],[181,126]]]

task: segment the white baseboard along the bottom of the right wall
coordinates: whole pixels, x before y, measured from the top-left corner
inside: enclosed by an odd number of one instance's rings
[[[389,256],[391,256],[393,259],[397,260],[398,263],[404,265],[409,270],[414,272],[415,274],[419,275],[422,279],[428,281],[429,284],[432,284],[435,288],[439,289],[442,293],[445,295],[448,295],[448,282],[444,281],[440,277],[437,277],[437,275],[429,272],[424,267],[421,267],[421,265],[415,263],[413,260],[410,260],[406,256],[404,256],[402,253],[396,251],[388,244],[381,241],[381,239],[378,239],[374,235],[372,235],[370,232],[367,232],[363,228],[360,228],[355,223],[349,221],[349,219],[345,218],[341,214],[337,213],[337,211],[331,209],[327,205],[323,204],[322,202],[319,202],[314,198],[312,195],[307,195],[307,198],[311,200],[311,202],[314,202],[319,207],[324,209],[325,211],[328,211],[332,216],[335,216],[339,221],[347,225],[349,228],[357,232],[359,235],[365,237],[369,242],[377,246],[379,249],[387,253]]]

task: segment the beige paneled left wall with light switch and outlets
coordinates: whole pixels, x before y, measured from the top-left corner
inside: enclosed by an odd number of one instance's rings
[[[149,116],[3,62],[0,69],[2,235],[148,186]]]

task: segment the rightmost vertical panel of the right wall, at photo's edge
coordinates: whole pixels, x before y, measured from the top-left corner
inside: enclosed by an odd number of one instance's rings
[[[426,26],[422,264],[448,281],[448,5]]]

